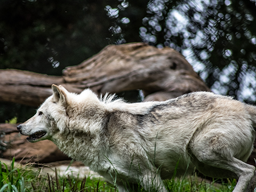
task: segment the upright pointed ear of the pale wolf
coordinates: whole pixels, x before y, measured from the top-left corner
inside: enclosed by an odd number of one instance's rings
[[[63,86],[57,86],[52,84],[53,101],[60,102],[61,105],[67,105],[67,93],[68,91]]]

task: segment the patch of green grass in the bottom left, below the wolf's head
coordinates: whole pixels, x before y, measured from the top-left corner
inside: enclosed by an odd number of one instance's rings
[[[0,192],[28,192],[28,191],[115,191],[115,187],[106,183],[102,179],[85,177],[79,180],[76,177],[69,176],[68,178],[59,177],[55,170],[55,177],[47,174],[40,174],[40,169],[25,166],[22,168],[14,167],[13,161],[8,167],[0,162]]]

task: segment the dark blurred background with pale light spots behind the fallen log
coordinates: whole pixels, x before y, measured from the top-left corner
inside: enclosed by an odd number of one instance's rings
[[[0,0],[0,69],[61,75],[108,44],[147,42],[185,55],[213,92],[255,103],[255,2]],[[0,102],[0,122],[34,112]]]

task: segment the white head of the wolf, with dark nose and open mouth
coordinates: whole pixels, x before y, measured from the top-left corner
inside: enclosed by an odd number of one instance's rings
[[[28,135],[29,142],[50,139],[56,132],[63,132],[68,125],[66,108],[68,94],[63,86],[52,85],[53,95],[38,108],[36,115],[17,126],[19,132]]]

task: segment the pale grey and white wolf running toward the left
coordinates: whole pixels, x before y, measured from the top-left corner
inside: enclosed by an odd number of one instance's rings
[[[255,137],[254,106],[211,92],[125,103],[89,89],[74,94],[52,85],[52,91],[18,125],[20,133],[29,142],[53,141],[119,191],[166,191],[163,179],[175,169],[179,176],[195,167],[213,178],[238,179],[235,192],[254,189],[255,167],[245,163]]]

